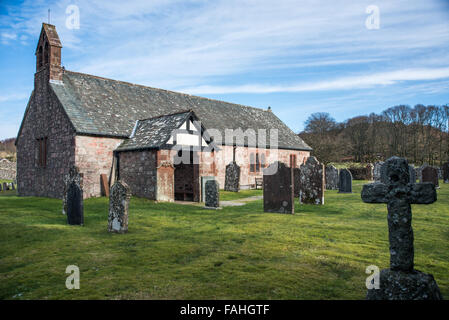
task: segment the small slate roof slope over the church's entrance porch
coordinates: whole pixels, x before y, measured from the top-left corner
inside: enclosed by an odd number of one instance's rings
[[[186,111],[138,120],[131,137],[123,141],[116,150],[159,148],[167,143],[172,135],[172,131],[178,129],[189,118],[190,114],[190,111]]]

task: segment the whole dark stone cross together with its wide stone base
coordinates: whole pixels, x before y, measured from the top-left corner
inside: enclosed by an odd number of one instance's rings
[[[414,269],[412,210],[410,204],[430,204],[437,200],[431,183],[410,183],[407,160],[392,157],[385,162],[387,183],[363,186],[362,200],[386,203],[390,242],[390,268],[380,273],[378,289],[369,289],[369,300],[442,299],[430,274]]]

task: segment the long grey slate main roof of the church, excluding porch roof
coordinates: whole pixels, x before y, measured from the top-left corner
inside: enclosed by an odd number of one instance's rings
[[[311,150],[271,111],[67,70],[63,84],[50,85],[78,134],[129,137],[137,120],[193,110],[223,137],[225,129],[275,128],[279,148]]]

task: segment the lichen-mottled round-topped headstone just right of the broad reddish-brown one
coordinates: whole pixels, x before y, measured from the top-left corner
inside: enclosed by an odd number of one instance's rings
[[[300,167],[299,203],[324,204],[324,165],[309,157]]]

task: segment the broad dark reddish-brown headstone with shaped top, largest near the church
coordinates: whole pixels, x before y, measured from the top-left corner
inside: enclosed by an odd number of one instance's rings
[[[274,162],[263,170],[263,210],[295,213],[293,169]]]

